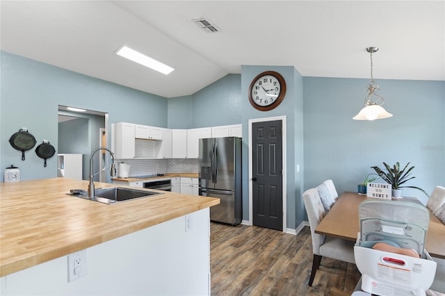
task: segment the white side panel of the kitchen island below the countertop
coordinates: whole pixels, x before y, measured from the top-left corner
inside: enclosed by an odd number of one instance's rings
[[[89,247],[87,275],[72,282],[67,256],[8,274],[1,295],[209,295],[209,223],[204,208]]]

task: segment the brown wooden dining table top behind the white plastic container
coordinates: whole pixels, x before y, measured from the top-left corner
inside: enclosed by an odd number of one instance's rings
[[[368,197],[355,192],[344,192],[318,224],[315,232],[345,240],[357,240],[357,232],[360,230],[358,208],[366,199]],[[403,200],[407,199],[401,199]],[[445,225],[431,213],[425,249],[431,256],[445,258]]]

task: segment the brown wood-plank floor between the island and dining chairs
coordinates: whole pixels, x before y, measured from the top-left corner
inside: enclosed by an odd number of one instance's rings
[[[360,278],[354,264],[323,257],[312,287],[307,286],[309,227],[294,236],[211,222],[210,247],[211,295],[350,295]]]

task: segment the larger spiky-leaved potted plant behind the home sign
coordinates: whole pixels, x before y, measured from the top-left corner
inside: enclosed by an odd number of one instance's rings
[[[403,170],[400,169],[400,165],[397,162],[395,165],[390,167],[387,165],[387,163],[383,163],[385,165],[385,169],[387,172],[384,172],[380,169],[380,167],[374,166],[371,167],[375,170],[375,172],[385,180],[388,184],[391,184],[392,188],[392,197],[394,198],[401,198],[402,195],[402,188],[414,188],[417,190],[421,190],[421,192],[425,193],[427,197],[429,197],[428,193],[423,190],[422,188],[416,187],[416,186],[403,186],[407,181],[410,181],[411,179],[414,179],[415,176],[411,176],[410,172],[414,169],[414,166],[407,169],[408,165],[410,163],[407,163],[405,167],[403,167]]]

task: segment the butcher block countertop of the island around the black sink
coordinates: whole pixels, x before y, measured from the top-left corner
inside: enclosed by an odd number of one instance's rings
[[[163,194],[108,205],[67,195],[71,189],[87,190],[88,181],[0,183],[0,277],[220,203],[159,191]]]

